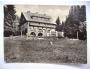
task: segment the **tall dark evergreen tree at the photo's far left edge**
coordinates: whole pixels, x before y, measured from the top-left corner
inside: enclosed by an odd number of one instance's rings
[[[15,19],[14,5],[4,6],[4,36],[9,36],[13,33],[13,21]]]

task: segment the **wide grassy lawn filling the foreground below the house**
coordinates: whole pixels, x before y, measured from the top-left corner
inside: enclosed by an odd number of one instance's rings
[[[6,62],[25,63],[87,63],[87,43],[66,38],[26,40],[4,38]]]

